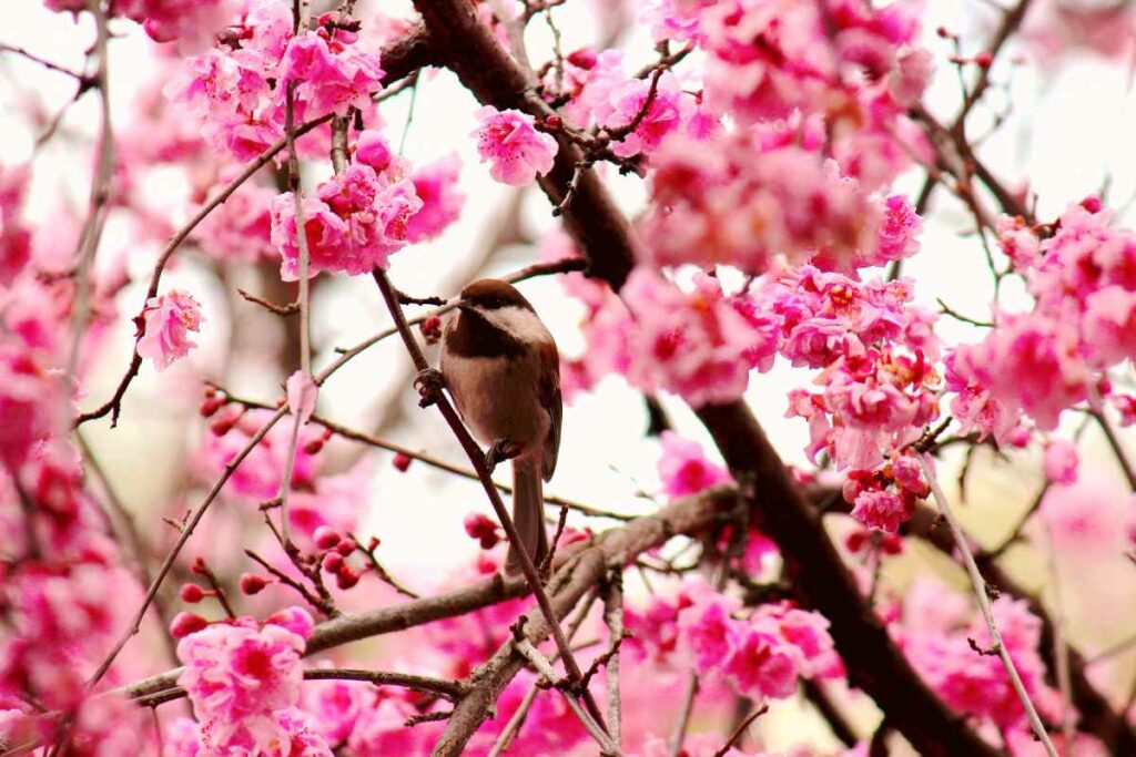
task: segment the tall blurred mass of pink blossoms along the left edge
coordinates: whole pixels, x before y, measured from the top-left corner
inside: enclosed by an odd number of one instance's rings
[[[89,676],[142,592],[69,436],[76,287],[51,275],[58,258],[23,222],[27,176],[0,170],[0,251],[10,264],[0,275],[0,741],[34,743],[66,718],[75,754],[141,752],[151,743],[143,714],[120,696],[89,696]],[[114,313],[111,287],[92,285],[82,347],[98,345]],[[137,670],[116,666],[108,680]]]

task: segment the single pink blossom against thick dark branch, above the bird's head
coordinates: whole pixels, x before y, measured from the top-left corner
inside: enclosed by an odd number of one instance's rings
[[[477,152],[488,161],[490,176],[502,184],[525,186],[537,175],[552,170],[557,141],[536,131],[536,121],[519,110],[498,110],[485,106],[478,110]]]

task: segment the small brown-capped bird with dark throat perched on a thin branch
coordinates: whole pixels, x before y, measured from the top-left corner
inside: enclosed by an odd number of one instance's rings
[[[512,459],[512,520],[533,563],[549,552],[543,481],[560,449],[560,356],[528,300],[498,279],[461,291],[442,334],[442,375],[474,437],[490,446],[492,468]],[[520,571],[509,546],[506,572]]]

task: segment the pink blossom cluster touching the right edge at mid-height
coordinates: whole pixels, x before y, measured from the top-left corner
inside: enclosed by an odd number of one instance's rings
[[[963,430],[1020,444],[1022,413],[1053,430],[1062,411],[1110,395],[1108,370],[1136,356],[1136,235],[1112,221],[1095,197],[1045,229],[1000,221],[1002,249],[1035,303],[995,310],[985,339],[949,355],[951,413]]]

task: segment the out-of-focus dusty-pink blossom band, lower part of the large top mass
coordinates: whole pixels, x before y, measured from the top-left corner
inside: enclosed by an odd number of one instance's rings
[[[712,141],[669,138],[654,155],[644,236],[655,264],[725,263],[762,272],[784,255],[840,270],[918,250],[918,217],[902,199],[878,201],[795,129]],[[824,261],[824,262],[821,262]]]

